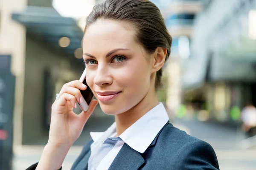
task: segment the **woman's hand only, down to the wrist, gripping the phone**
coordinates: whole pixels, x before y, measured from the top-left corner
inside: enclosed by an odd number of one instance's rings
[[[71,147],[79,138],[85,123],[98,103],[97,100],[92,100],[88,111],[81,112],[79,115],[73,112],[73,108],[77,107],[76,102],[82,102],[79,89],[86,88],[79,80],[63,85],[59,93],[61,97],[52,105],[48,144]]]

